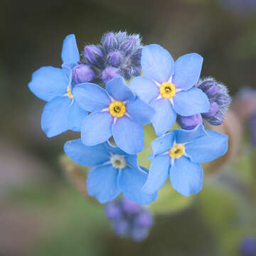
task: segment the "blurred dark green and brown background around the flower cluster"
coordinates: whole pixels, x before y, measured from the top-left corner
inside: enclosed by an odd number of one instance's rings
[[[144,242],[114,235],[103,208],[68,180],[63,143],[79,134],[47,139],[41,131],[45,103],[27,86],[33,71],[60,66],[70,33],[82,50],[119,30],[174,58],[203,55],[202,75],[225,83],[235,100],[243,87],[256,89],[255,0],[1,0],[0,255],[240,255],[242,239],[256,235],[253,127],[238,117],[247,100],[228,117],[230,156],[208,171],[193,202],[166,199],[169,212],[156,215]]]

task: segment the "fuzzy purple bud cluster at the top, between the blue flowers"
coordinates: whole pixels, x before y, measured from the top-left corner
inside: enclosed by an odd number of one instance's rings
[[[106,33],[100,45],[85,46],[82,55],[83,63],[95,70],[95,81],[108,82],[119,75],[129,80],[141,74],[142,43],[137,34]]]

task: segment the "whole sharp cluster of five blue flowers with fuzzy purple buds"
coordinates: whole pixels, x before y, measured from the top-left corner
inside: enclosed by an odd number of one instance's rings
[[[168,176],[184,196],[201,190],[200,164],[225,154],[228,137],[206,130],[203,122],[171,131],[177,117],[223,122],[230,97],[211,78],[198,82],[201,55],[188,53],[174,61],[159,45],[142,47],[137,35],[110,32],[101,45],[85,46],[82,60],[75,36],[67,36],[62,59],[61,69],[40,68],[28,86],[47,101],[41,126],[48,137],[68,129],[80,132],[81,139],[66,142],[64,151],[91,168],[90,196],[107,203],[123,193],[149,204]],[[149,171],[137,159],[144,149],[144,124],[152,124],[159,137],[151,142]]]

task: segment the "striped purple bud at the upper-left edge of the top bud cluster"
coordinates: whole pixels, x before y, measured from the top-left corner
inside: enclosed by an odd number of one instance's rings
[[[87,63],[91,65],[101,66],[104,54],[98,46],[91,45],[85,46],[83,56]]]

